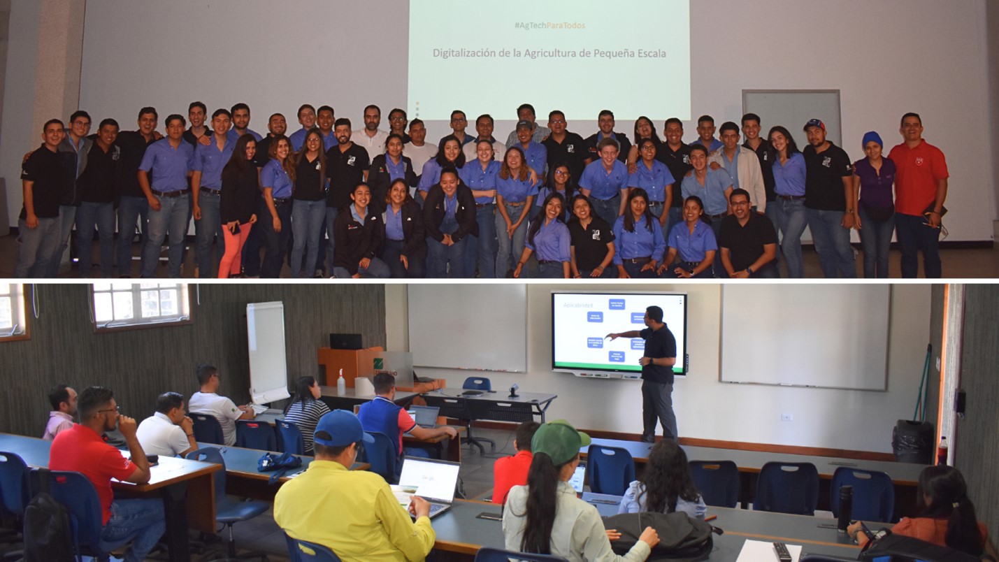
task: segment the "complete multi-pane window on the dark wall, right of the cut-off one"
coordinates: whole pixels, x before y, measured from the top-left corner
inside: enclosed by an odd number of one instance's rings
[[[94,326],[98,330],[187,322],[188,286],[182,282],[95,282]]]

